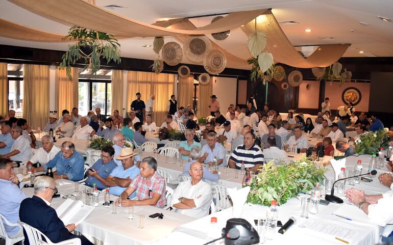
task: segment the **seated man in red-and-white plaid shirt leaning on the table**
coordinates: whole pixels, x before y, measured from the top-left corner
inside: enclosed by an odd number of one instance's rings
[[[165,207],[165,179],[156,170],[156,159],[151,156],[142,159],[140,174],[132,180],[130,186],[121,194],[121,206],[155,205],[160,208]],[[138,200],[127,200],[135,190]],[[116,200],[116,202],[119,201],[119,199]]]

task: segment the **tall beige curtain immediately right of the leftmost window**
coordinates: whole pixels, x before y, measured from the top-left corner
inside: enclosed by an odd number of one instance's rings
[[[49,66],[23,65],[23,118],[43,128],[49,114]]]

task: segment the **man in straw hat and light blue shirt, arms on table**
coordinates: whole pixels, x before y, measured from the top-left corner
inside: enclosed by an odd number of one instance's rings
[[[123,148],[120,155],[116,156],[117,160],[121,160],[121,166],[117,166],[112,173],[102,182],[109,187],[109,193],[120,196],[124,190],[130,186],[132,180],[140,173],[139,168],[134,164],[134,156],[136,153],[132,148]],[[135,197],[136,192],[132,193],[129,198]]]

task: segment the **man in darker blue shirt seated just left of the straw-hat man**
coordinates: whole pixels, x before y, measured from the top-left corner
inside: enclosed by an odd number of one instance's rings
[[[89,176],[85,181],[85,184],[92,187],[95,183],[97,189],[102,190],[108,186],[104,185],[103,182],[110,173],[117,167],[116,162],[113,160],[115,149],[111,146],[105,146],[101,151],[101,159],[98,159],[93,166],[87,171]]]

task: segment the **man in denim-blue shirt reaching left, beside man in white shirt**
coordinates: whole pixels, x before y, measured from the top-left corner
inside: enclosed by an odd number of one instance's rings
[[[69,141],[63,142],[61,151],[47,164],[42,164],[37,168],[37,171],[46,171],[47,168],[55,166],[57,171],[53,174],[54,179],[69,179],[71,181],[83,179],[83,156],[75,150],[75,145]]]

